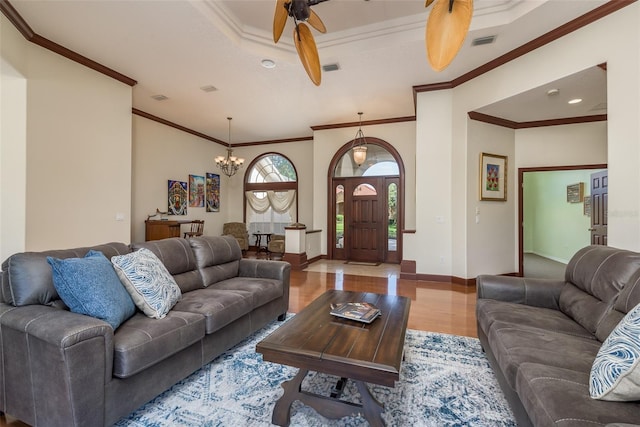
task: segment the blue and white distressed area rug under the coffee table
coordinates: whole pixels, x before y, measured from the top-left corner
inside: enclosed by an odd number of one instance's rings
[[[283,394],[280,384],[296,368],[265,362],[256,343],[274,322],[212,363],[147,403],[116,426],[270,426]],[[328,395],[336,377],[310,373],[303,390]],[[515,426],[489,362],[475,338],[408,330],[405,361],[396,387],[369,385],[384,404],[387,426]],[[359,402],[354,384],[343,399]],[[292,426],[367,426],[358,415],[329,420],[300,402],[291,408]]]

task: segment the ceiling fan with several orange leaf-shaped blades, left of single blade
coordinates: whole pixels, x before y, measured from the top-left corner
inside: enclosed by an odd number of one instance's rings
[[[327,0],[276,0],[276,11],[273,16],[273,41],[278,43],[284,26],[287,23],[287,16],[291,16],[296,24],[293,29],[293,40],[298,51],[298,57],[304,66],[311,81],[320,85],[322,79],[320,69],[320,57],[318,48],[313,39],[313,34],[308,23],[321,33],[326,33],[327,28],[322,23],[320,17],[311,10],[311,6]],[[306,22],[306,23],[305,23]]]

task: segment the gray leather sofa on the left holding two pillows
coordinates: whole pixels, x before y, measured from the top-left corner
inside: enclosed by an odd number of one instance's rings
[[[59,299],[46,256],[154,252],[182,291],[163,319],[115,333]],[[2,265],[0,410],[36,426],[107,426],[268,322],[284,319],[290,265],[243,259],[230,236],[19,253]]]

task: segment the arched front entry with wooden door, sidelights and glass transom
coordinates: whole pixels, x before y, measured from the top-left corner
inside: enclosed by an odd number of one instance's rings
[[[329,257],[399,263],[404,224],[402,159],[388,142],[367,137],[367,159],[358,166],[352,142],[342,146],[329,165]]]

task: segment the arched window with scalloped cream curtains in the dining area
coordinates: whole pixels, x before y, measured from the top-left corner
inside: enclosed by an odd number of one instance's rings
[[[245,177],[249,234],[284,234],[284,228],[298,219],[298,175],[293,163],[282,154],[263,154],[253,161]],[[255,244],[254,239],[252,242]]]

